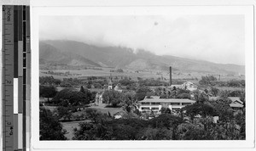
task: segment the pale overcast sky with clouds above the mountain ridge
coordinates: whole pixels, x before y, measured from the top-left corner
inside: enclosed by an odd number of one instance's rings
[[[42,16],[41,40],[142,48],[158,55],[245,64],[243,15]]]

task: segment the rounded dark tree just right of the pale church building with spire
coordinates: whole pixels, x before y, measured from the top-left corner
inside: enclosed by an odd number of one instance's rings
[[[113,107],[117,107],[119,103],[122,102],[122,93],[113,91],[113,90],[107,90],[102,95],[103,103],[111,104]]]

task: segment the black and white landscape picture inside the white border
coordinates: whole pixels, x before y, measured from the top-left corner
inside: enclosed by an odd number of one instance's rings
[[[245,140],[241,14],[39,18],[39,139]]]

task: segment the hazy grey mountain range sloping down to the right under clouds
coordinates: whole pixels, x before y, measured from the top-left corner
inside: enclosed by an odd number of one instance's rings
[[[114,67],[130,70],[173,70],[205,72],[216,74],[244,74],[245,66],[236,64],[215,64],[202,60],[184,59],[170,55],[155,55],[147,50],[121,47],[97,47],[84,42],[40,41],[40,64],[56,63]]]

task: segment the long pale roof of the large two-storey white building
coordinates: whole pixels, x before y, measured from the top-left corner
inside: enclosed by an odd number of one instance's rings
[[[140,103],[195,103],[195,100],[182,98],[145,98]]]

